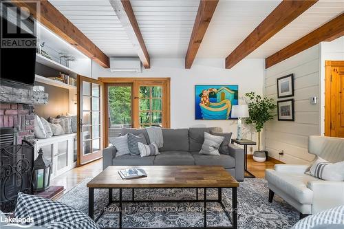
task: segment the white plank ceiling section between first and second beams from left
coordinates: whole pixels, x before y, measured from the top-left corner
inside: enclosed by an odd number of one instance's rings
[[[109,1],[50,0],[50,3],[108,56],[137,55]]]

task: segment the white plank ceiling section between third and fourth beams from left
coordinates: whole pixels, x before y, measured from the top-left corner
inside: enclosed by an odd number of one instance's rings
[[[279,3],[220,0],[196,58],[226,58]]]

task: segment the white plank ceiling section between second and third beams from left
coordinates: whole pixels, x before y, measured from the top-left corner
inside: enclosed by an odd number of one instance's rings
[[[144,43],[153,58],[184,58],[200,0],[131,0]]]

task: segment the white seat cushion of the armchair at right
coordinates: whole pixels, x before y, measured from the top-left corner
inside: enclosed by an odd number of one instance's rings
[[[304,173],[279,172],[272,169],[266,170],[265,179],[301,204],[313,202],[313,192],[307,187],[308,182],[321,180]]]

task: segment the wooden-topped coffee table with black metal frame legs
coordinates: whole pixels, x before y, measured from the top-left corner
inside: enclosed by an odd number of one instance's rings
[[[87,183],[89,188],[89,217],[94,218],[94,188],[109,189],[109,204],[119,204],[119,228],[122,228],[123,202],[203,202],[204,209],[208,202],[219,202],[233,226],[237,228],[237,187],[239,183],[222,166],[136,166],[143,168],[147,177],[122,179],[119,170],[133,166],[109,166]],[[119,201],[112,200],[112,189],[119,188]],[[122,200],[122,189],[131,188],[132,199]],[[135,188],[195,188],[195,199],[189,200],[135,200]],[[204,189],[204,199],[198,199],[198,188]],[[207,188],[217,188],[218,199],[206,199]],[[222,202],[222,188],[232,188],[232,217]],[[109,205],[108,204],[108,205]],[[103,212],[97,217],[103,214]],[[96,219],[96,220],[97,220]],[[206,228],[206,210],[204,210],[204,227]],[[219,228],[219,227],[216,227]]]

